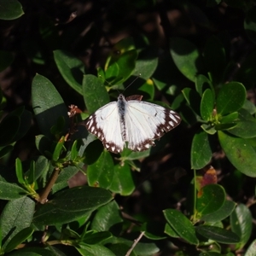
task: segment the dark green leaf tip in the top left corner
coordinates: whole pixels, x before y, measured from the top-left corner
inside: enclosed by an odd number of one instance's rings
[[[24,15],[22,6],[17,0],[1,0],[0,19],[15,20]]]

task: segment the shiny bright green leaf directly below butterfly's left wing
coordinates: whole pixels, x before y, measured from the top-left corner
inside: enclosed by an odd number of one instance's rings
[[[87,179],[90,186],[108,189],[113,181],[113,158],[104,150],[95,163],[87,167]]]

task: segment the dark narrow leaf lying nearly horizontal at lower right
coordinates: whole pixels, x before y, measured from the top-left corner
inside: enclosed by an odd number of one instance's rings
[[[224,230],[219,227],[200,225],[195,227],[196,232],[213,241],[224,244],[236,244],[240,241],[239,236],[230,230]]]

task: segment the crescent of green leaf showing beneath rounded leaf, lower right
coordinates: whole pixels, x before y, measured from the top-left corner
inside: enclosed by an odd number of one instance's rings
[[[217,211],[202,215],[201,220],[212,223],[221,221],[224,218],[229,217],[230,214],[234,211],[235,207],[235,202],[225,200],[222,207],[220,207]]]

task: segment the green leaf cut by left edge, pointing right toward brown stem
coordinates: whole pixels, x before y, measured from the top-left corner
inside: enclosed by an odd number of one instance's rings
[[[0,180],[0,199],[3,200],[14,200],[24,197],[27,194],[25,189],[20,188],[15,183],[8,183]]]

